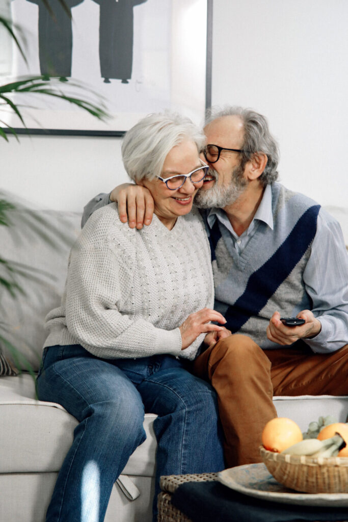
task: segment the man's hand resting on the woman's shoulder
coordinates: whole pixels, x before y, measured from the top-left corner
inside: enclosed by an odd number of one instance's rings
[[[130,228],[149,225],[153,216],[153,198],[148,188],[133,183],[118,185],[110,193],[110,200],[118,205],[119,219]]]

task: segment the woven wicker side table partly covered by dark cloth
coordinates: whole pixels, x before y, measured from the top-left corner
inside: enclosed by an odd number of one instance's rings
[[[198,473],[195,475],[169,475],[161,477],[161,493],[158,495],[158,522],[191,522],[182,511],[171,503],[172,493],[185,482],[205,482],[217,480],[217,473]]]

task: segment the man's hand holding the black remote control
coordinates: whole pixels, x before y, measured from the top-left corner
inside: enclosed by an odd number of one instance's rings
[[[310,310],[299,312],[297,317],[305,319],[305,324],[302,326],[285,326],[280,321],[280,313],[274,312],[267,326],[268,339],[277,342],[278,345],[292,345],[298,339],[315,337],[320,333],[321,323]]]

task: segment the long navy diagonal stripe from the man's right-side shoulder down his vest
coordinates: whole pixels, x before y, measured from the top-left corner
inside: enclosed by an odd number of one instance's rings
[[[262,310],[304,255],[316,234],[319,209],[320,205],[308,208],[278,250],[249,277],[244,293],[224,313],[224,326],[232,333]]]

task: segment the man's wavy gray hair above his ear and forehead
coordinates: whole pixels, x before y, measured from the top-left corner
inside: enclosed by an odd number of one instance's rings
[[[257,152],[267,155],[267,165],[259,180],[266,186],[278,179],[279,149],[277,141],[269,131],[268,121],[265,116],[239,106],[226,105],[223,109],[211,108],[207,111],[206,125],[223,116],[240,116],[244,124],[244,143],[241,165],[244,170],[245,164]],[[218,145],[218,144],[217,144]]]

